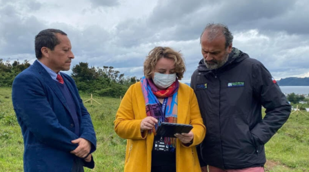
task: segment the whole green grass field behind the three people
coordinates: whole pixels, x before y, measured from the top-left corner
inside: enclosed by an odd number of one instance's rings
[[[83,100],[90,95],[81,95]],[[114,133],[119,98],[94,97],[101,105],[85,103],[97,133],[94,169],[123,171],[126,140]],[[266,171],[309,171],[309,113],[292,114],[266,144]],[[23,171],[23,138],[12,107],[11,89],[0,87],[0,171]]]

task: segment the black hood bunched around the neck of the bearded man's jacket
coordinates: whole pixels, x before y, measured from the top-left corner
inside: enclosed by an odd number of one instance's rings
[[[244,59],[249,58],[249,56],[246,53],[241,52],[241,50],[238,50],[236,47],[232,48],[232,52],[230,52],[230,54],[228,55],[228,61],[226,61],[226,63],[224,63],[223,66],[219,67],[218,69],[208,69],[208,67],[206,67],[205,62],[203,60],[203,58],[201,59],[201,61],[199,61],[199,67],[197,67],[199,69],[200,72],[219,72],[222,69],[227,69],[229,67],[234,66],[235,64],[243,61]]]

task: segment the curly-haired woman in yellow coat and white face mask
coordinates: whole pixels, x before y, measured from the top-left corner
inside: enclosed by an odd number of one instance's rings
[[[195,146],[206,128],[195,93],[178,82],[186,71],[181,54],[170,47],[155,47],[143,69],[145,76],[130,86],[114,120],[116,133],[128,139],[124,171],[201,171]],[[161,122],[190,124],[193,129],[163,138],[156,134]]]

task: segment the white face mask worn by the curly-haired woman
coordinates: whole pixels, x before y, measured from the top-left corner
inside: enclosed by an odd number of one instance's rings
[[[172,85],[176,80],[176,74],[160,74],[155,72],[153,83],[159,88],[167,88]]]

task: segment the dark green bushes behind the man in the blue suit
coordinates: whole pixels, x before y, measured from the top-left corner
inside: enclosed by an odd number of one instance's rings
[[[10,63],[0,58],[0,87],[12,87],[15,76],[29,66],[28,60]],[[139,81],[136,76],[120,74],[112,66],[92,67],[83,62],[72,68],[71,76],[80,92],[110,97],[123,96],[130,85]]]

